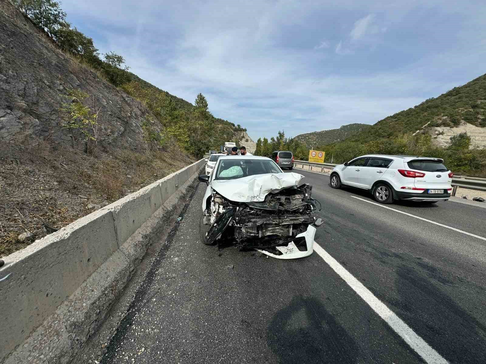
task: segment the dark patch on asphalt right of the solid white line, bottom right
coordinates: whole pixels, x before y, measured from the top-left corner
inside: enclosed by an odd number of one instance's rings
[[[401,318],[449,363],[486,363],[485,324],[436,287],[431,279],[437,280],[438,272],[429,268],[425,274],[429,277],[407,265],[398,268],[400,300],[393,304],[404,312]]]

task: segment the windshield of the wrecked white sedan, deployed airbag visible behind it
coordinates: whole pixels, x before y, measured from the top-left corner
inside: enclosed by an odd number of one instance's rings
[[[215,180],[236,180],[246,176],[265,173],[282,173],[271,160],[265,159],[225,159],[219,162]]]

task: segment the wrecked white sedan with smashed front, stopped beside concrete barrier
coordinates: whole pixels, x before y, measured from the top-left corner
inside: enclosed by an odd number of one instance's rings
[[[201,240],[224,239],[242,249],[257,249],[278,259],[312,254],[320,203],[304,176],[284,173],[270,158],[222,156],[210,175],[199,176],[204,195]]]

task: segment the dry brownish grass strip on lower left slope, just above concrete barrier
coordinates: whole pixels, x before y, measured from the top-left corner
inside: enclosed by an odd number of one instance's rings
[[[0,146],[0,257],[29,245],[17,241],[23,232],[42,238],[43,224],[60,229],[92,212],[88,203],[105,206],[193,162],[177,148],[89,156],[49,136]]]

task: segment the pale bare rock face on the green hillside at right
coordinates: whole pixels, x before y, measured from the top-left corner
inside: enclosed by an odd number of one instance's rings
[[[432,140],[439,147],[448,147],[451,144],[451,136],[466,132],[471,138],[470,148],[486,148],[486,128],[461,122],[457,127],[434,127],[430,129]]]

